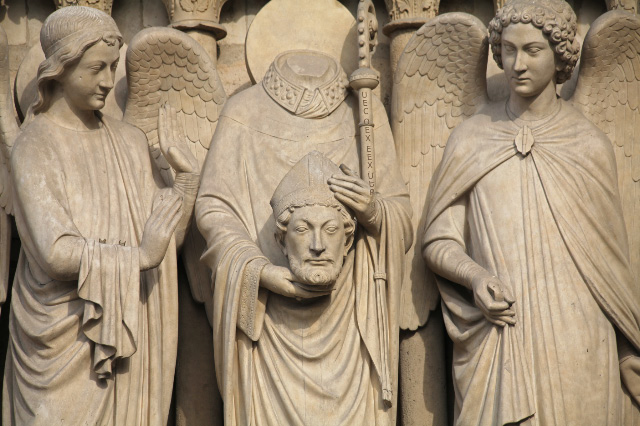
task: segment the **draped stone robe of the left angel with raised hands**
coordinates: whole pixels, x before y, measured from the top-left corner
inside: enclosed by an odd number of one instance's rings
[[[164,185],[138,129],[38,115],[12,154],[22,241],[4,375],[6,425],[164,425],[177,350],[176,247],[140,272]]]

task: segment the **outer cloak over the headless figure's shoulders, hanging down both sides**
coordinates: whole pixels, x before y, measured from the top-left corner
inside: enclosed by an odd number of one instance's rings
[[[335,105],[334,105],[335,106]],[[276,187],[302,157],[319,151],[336,164],[359,170],[357,104],[351,96],[323,118],[297,116],[276,103],[262,85],[227,101],[220,116],[202,172],[196,218],[207,240],[202,259],[214,282],[213,335],[218,386],[226,425],[251,424],[252,387],[257,345],[268,304],[279,297],[259,288],[262,267],[271,262],[287,266],[274,238],[275,220],[269,204]],[[380,408],[378,424],[395,423],[398,363],[398,303],[402,256],[411,245],[410,204],[396,164],[393,139],[384,108],[374,107],[377,191],[383,210],[379,259],[371,258],[364,231],[352,249],[355,318],[358,332],[380,380],[381,324],[376,320],[373,264],[386,275],[388,359],[393,403]],[[378,385],[379,389],[379,385]],[[321,420],[321,419],[318,419]]]

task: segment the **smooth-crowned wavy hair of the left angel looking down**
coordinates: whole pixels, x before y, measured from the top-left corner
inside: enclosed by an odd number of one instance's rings
[[[49,15],[40,31],[46,59],[38,67],[37,98],[28,116],[47,109],[55,79],[99,41],[122,46],[122,34],[106,13],[85,6],[68,6]]]

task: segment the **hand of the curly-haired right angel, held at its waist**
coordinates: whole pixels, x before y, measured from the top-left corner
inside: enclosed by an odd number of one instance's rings
[[[493,276],[478,276],[472,280],[471,288],[476,306],[489,322],[501,327],[516,323],[512,306],[515,299],[499,279]]]

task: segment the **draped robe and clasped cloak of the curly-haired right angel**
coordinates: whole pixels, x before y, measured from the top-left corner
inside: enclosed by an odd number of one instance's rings
[[[622,424],[615,329],[640,348],[640,289],[615,157],[560,102],[537,122],[486,107],[454,130],[430,188],[423,247],[455,241],[515,297],[515,326],[497,327],[471,290],[437,277],[458,425]],[[528,155],[514,146],[524,124]]]

